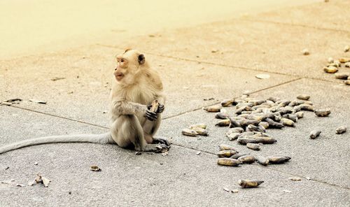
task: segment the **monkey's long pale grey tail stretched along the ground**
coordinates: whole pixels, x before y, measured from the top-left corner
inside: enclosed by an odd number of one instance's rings
[[[111,132],[104,134],[76,134],[76,135],[60,135],[60,136],[44,136],[31,138],[17,143],[11,143],[0,147],[0,154],[19,148],[25,148],[32,145],[42,145],[48,143],[115,143],[111,136]]]

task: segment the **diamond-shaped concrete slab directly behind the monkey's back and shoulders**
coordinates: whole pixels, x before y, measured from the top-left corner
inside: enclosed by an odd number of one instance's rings
[[[16,105],[21,108],[108,127],[111,73],[114,56],[119,52],[122,50],[91,46],[43,57],[3,61],[0,64],[4,80],[0,99],[21,98],[24,101]],[[165,87],[167,109],[163,117],[295,79],[269,73],[271,78],[258,80],[255,71],[147,53],[146,58],[160,72]],[[64,79],[52,81],[52,78]],[[214,101],[204,101],[209,98]],[[47,104],[33,103],[29,99],[47,101]]]

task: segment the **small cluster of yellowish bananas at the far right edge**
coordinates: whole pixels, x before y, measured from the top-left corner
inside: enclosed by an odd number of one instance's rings
[[[344,48],[344,52],[349,52],[350,47],[346,45]],[[334,73],[335,78],[344,80],[345,85],[350,85],[350,73],[337,73],[339,68],[344,64],[345,68],[350,69],[350,57],[341,57],[339,59],[333,59],[332,57],[328,57],[328,64],[323,67],[323,71],[325,73]]]

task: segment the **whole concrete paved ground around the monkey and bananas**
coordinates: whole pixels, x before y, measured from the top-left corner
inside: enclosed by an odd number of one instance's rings
[[[169,15],[169,5],[160,4],[158,11],[151,2],[135,8],[141,13],[136,17],[126,16],[127,5],[103,1],[101,24],[97,13],[86,15],[96,7],[89,2],[77,13],[73,11],[80,7],[65,1],[0,3],[1,15],[16,22],[0,22],[8,27],[0,34],[5,40],[0,46],[0,100],[23,99],[0,106],[0,145],[108,131],[114,57],[133,47],[145,52],[162,76],[168,101],[158,134],[172,141],[169,155],[134,155],[116,145],[90,143],[7,152],[0,155],[0,206],[350,206],[350,135],[335,134],[340,125],[350,128],[350,87],[322,70],[328,57],[350,57],[343,52],[350,45],[349,1],[201,1],[199,8],[197,1],[172,2],[170,7],[176,9]],[[25,14],[16,18],[11,10]],[[66,11],[67,18],[81,17],[81,24],[59,24]],[[45,15],[47,19],[42,18]],[[31,21],[36,27],[29,27]],[[62,31],[52,32],[59,27]],[[304,48],[310,55],[301,54]],[[350,73],[344,66],[341,71]],[[257,79],[258,73],[270,78]],[[229,141],[227,129],[214,126],[214,114],[201,109],[244,92],[258,99],[290,100],[306,93],[317,108],[330,108],[332,113],[305,113],[295,128],[269,129],[278,142],[253,152]],[[209,98],[214,100],[204,101]],[[208,124],[208,137],[181,135],[181,129],[198,122]],[[323,132],[310,140],[312,129]],[[218,166],[215,153],[221,143],[253,155],[283,154],[292,159],[266,167]],[[102,171],[90,171],[93,164]],[[27,186],[36,173],[51,180],[47,188]],[[245,178],[265,183],[241,189],[237,180]]]

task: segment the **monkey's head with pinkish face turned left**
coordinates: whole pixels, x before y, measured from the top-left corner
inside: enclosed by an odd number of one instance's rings
[[[137,82],[138,74],[146,64],[144,54],[137,50],[127,49],[121,55],[117,55],[117,67],[114,69],[114,76],[118,83],[132,85]]]

